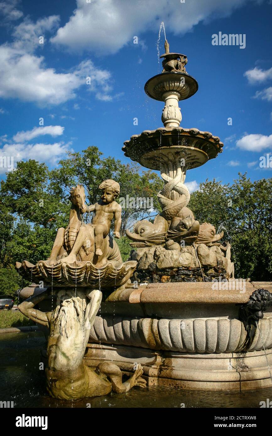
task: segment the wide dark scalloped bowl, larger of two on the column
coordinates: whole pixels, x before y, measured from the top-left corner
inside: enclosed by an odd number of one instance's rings
[[[151,170],[160,170],[175,159],[185,160],[186,169],[200,167],[222,152],[223,143],[218,136],[198,129],[160,127],[133,135],[124,142],[124,155]]]

